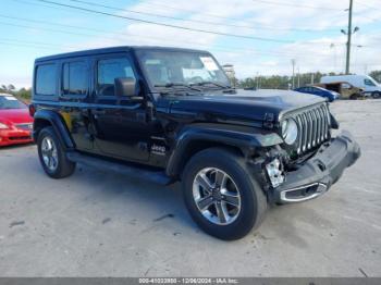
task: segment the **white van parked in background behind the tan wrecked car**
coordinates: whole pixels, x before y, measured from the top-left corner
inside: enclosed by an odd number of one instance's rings
[[[362,89],[365,96],[381,97],[381,85],[368,75],[334,75],[323,76],[320,79],[322,84],[336,82],[351,83],[353,86]]]

